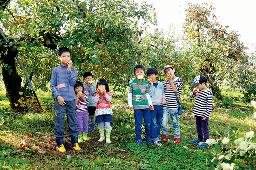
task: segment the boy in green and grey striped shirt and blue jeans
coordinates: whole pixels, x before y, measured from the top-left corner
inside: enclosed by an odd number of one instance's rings
[[[135,118],[135,142],[142,142],[142,117],[145,123],[146,140],[148,144],[152,144],[151,127],[150,127],[150,110],[154,110],[150,95],[148,94],[148,82],[143,80],[146,69],[143,65],[136,65],[133,69],[136,79],[129,83],[128,87],[128,105],[130,111],[134,111]]]

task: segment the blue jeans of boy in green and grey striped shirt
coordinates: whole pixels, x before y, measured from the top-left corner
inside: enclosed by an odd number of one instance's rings
[[[134,119],[135,119],[135,140],[141,140],[142,134],[142,117],[144,118],[145,123],[145,133],[146,133],[146,140],[151,140],[151,127],[150,127],[150,108],[146,109],[136,109],[134,110]]]

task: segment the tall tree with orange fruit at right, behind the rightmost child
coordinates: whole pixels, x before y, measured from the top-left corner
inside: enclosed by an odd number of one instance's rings
[[[236,31],[222,26],[214,7],[208,4],[188,3],[184,36],[190,40],[191,55],[210,84],[214,96],[222,99],[220,85],[227,80],[231,87],[243,86],[250,81],[251,65]]]

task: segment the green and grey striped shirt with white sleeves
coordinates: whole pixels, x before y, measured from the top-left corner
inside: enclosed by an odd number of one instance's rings
[[[148,82],[145,80],[139,83],[136,79],[129,83],[127,100],[129,107],[133,109],[146,109],[152,105],[150,95],[148,94]]]

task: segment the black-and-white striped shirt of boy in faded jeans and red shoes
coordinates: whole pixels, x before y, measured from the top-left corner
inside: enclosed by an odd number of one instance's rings
[[[176,95],[178,97],[178,100],[180,99],[180,94],[182,92],[182,79],[179,77],[175,77],[173,80],[173,83],[176,87]],[[178,108],[178,102],[175,96],[175,93],[172,90],[172,86],[170,84],[169,79],[165,79],[164,82],[164,93],[166,96],[166,104],[163,106],[166,109],[177,109]]]

